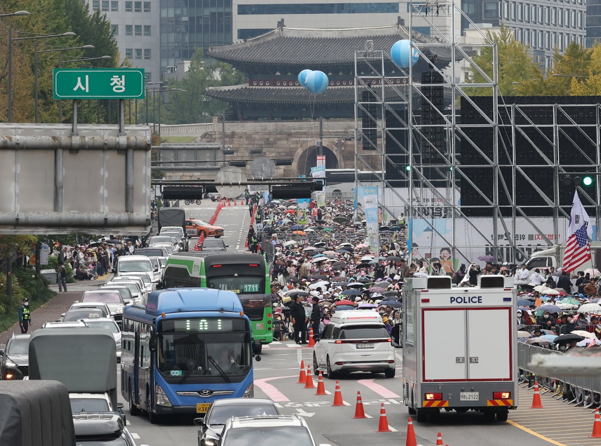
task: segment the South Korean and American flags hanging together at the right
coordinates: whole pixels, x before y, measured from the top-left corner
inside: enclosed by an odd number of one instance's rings
[[[591,248],[588,243],[590,219],[582,206],[578,192],[574,192],[570,224],[567,229],[566,253],[563,270],[572,272],[583,263],[591,260]]]

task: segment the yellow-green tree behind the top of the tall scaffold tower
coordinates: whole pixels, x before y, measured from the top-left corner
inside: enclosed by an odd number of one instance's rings
[[[542,79],[540,68],[528,53],[528,47],[516,41],[513,32],[501,26],[498,33],[487,31],[487,38],[496,43],[498,55],[498,85],[499,93],[503,96],[519,94],[519,84],[532,79]],[[473,58],[475,66],[480,67],[487,76],[493,76],[493,48],[482,47],[480,54]],[[469,82],[474,84],[486,83],[486,78],[478,70],[472,68]],[[465,88],[468,94],[486,96],[492,94],[491,88]]]

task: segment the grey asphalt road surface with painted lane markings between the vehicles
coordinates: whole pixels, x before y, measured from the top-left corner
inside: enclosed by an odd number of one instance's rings
[[[214,211],[213,203],[191,206],[188,215],[208,219]],[[245,250],[244,241],[248,230],[248,208],[232,206],[222,209],[217,224],[225,228],[226,243],[230,250]],[[232,249],[233,248],[233,249]],[[82,291],[79,291],[81,294]],[[58,295],[43,309],[34,312],[36,319],[54,320],[63,313],[77,292]],[[39,315],[37,314],[40,312]],[[42,313],[43,312],[43,313]],[[35,326],[34,326],[35,328]],[[325,379],[326,396],[316,396],[316,389],[305,389],[298,384],[299,364],[313,365],[313,349],[299,346],[293,341],[275,342],[263,347],[262,360],[255,362],[255,396],[270,397],[282,414],[300,414],[305,417],[314,433],[316,442],[332,446],[405,444],[407,432],[407,408],[401,400],[401,354],[397,352],[397,376],[386,379],[382,374],[355,373],[340,378],[344,406],[332,407],[335,383]],[[120,370],[117,370],[120,373]],[[120,377],[118,377],[120,382]],[[354,420],[357,392],[361,393],[365,414],[368,418]],[[119,399],[127,408],[126,402]],[[444,413],[436,423],[416,423],[413,426],[418,444],[435,445],[438,432],[443,444],[449,446],[545,446],[555,444],[601,445],[601,439],[588,435],[593,428],[590,410],[568,406],[543,395],[545,409],[529,409],[532,391],[520,390],[520,407],[511,411],[507,423],[485,423],[481,414],[458,415]],[[386,418],[392,432],[376,432],[379,427],[380,406],[385,404]],[[195,445],[197,427],[192,425],[194,416],[163,420],[162,424],[150,424],[144,415],[132,417],[127,414],[130,432],[138,445],[151,446]],[[282,440],[282,445],[285,441]]]

